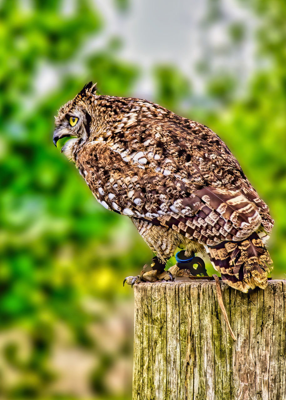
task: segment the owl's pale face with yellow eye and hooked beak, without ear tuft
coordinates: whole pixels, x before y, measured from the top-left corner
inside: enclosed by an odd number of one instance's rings
[[[78,146],[84,144],[89,137],[90,115],[79,105],[74,105],[74,101],[65,104],[56,116],[56,128],[54,130],[53,141],[56,146],[61,138],[70,137],[61,149],[69,159]]]

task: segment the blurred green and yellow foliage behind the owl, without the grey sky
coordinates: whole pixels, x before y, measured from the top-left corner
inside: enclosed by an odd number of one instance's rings
[[[120,12],[128,4],[114,1]],[[210,126],[228,144],[276,220],[270,240],[273,276],[285,278],[286,5],[282,0],[243,4],[261,20],[258,58],[270,61],[254,73],[244,98],[234,96],[239,82],[230,74],[206,76],[214,106],[190,108],[191,82],[174,66],[158,65],[155,101]],[[100,327],[114,318],[111,310],[122,312],[118,304],[132,303],[122,280],[152,255],[128,218],[97,204],[74,166],[54,148],[52,131],[56,110],[86,82],[98,81],[104,94],[132,96],[141,70],[118,59],[117,40],[91,56],[82,53],[80,73],[66,68],[105,23],[93,3],[75,5],[68,15],[58,1],[4,0],[0,6],[0,393],[5,399],[78,398],[64,385],[53,386],[59,372],[51,358],[59,343],[97,360],[87,376],[95,398],[131,393],[130,377],[117,390],[108,374],[116,375],[120,362],[130,359],[132,327],[121,338],[120,323],[114,325],[108,345],[119,337],[121,342],[113,350],[100,341],[108,326]],[[217,10],[213,15],[218,18]],[[230,35],[239,45],[242,26],[234,25]],[[36,79],[41,63],[60,75],[48,95],[41,95]],[[96,308],[100,302],[104,306]]]

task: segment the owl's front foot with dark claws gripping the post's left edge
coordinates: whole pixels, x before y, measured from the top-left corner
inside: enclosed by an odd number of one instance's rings
[[[144,266],[144,268],[146,266]],[[164,265],[158,260],[157,257],[152,258],[151,267],[153,268],[152,271],[145,271],[143,269],[137,276],[127,276],[123,281],[123,286],[125,283],[131,285],[132,287],[134,283],[156,282],[156,280],[166,282],[168,280],[173,280],[171,272],[164,270]]]

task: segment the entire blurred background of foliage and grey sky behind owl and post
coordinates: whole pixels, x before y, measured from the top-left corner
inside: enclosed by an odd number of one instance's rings
[[[276,220],[286,278],[284,0],[0,2],[0,398],[130,399],[132,290],[152,254],[52,143],[89,80],[198,120]]]

